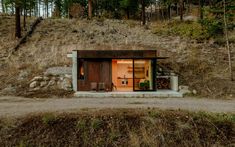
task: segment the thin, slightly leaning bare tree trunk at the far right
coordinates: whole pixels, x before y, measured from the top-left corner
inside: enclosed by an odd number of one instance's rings
[[[231,81],[233,81],[233,71],[232,71],[231,51],[230,51],[229,40],[228,40],[228,26],[227,26],[227,19],[226,19],[226,1],[225,0],[223,0],[223,5],[224,5],[224,34],[225,34],[225,39],[226,39],[226,48],[228,51],[228,67],[229,67],[230,79]]]

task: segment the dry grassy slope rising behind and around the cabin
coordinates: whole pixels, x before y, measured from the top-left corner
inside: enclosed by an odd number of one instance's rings
[[[6,19],[13,24],[13,18],[1,18]],[[0,25],[3,28],[3,23]],[[0,80],[4,84],[0,89],[27,91],[28,81],[46,69],[71,66],[66,54],[74,49],[158,49],[170,57],[161,64],[179,74],[180,85],[188,85],[200,95],[235,97],[235,84],[229,81],[227,50],[223,44],[211,39],[198,41],[156,33],[160,27],[159,22],[141,26],[140,22],[126,20],[43,20],[14,55],[1,61]],[[10,33],[6,34],[7,31]],[[10,40],[7,42],[7,37],[1,36],[4,52],[15,45],[16,41],[10,37],[12,31],[10,27],[1,30]],[[234,44],[231,47],[234,57]],[[235,71],[235,60],[233,65]],[[19,76],[22,80],[17,80]]]

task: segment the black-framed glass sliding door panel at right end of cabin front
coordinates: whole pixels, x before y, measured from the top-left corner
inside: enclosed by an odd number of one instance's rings
[[[133,89],[134,91],[152,91],[153,61],[150,59],[133,60]]]

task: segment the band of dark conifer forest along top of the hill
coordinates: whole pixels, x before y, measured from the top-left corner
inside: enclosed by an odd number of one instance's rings
[[[235,27],[233,0],[1,0],[2,14],[16,16],[15,36],[21,37],[26,17],[43,18],[109,18],[150,21],[172,20],[190,16],[205,30],[203,39],[223,35]],[[188,19],[188,17],[186,18]]]

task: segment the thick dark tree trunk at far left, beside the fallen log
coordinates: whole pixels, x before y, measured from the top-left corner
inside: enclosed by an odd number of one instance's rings
[[[15,37],[21,38],[21,27],[20,27],[20,6],[18,1],[15,4]]]

